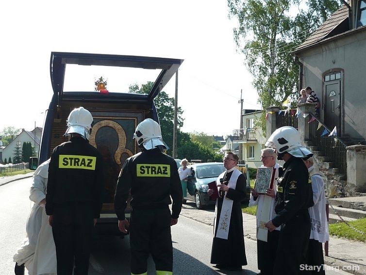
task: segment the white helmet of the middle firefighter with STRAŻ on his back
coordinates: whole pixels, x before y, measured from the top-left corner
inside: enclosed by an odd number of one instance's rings
[[[136,139],[138,146],[142,145],[146,150],[154,149],[159,145],[169,149],[162,138],[160,125],[152,119],[141,121],[136,127],[133,138]]]

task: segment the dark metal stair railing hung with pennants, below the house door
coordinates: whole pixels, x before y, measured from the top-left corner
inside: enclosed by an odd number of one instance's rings
[[[311,114],[312,115],[312,114]],[[332,131],[323,122],[318,120],[315,116],[314,121],[310,122],[309,125],[309,136],[312,145],[317,147],[318,151],[323,152],[326,156],[327,161],[333,163],[334,168],[338,168],[338,172],[346,174],[347,172],[347,150],[346,144],[342,141],[341,137],[329,136]],[[318,125],[321,123],[321,127],[318,129]],[[324,128],[327,129],[328,133],[322,136]]]

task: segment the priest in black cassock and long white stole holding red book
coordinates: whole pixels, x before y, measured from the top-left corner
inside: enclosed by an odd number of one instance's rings
[[[219,197],[215,207],[211,263],[218,269],[241,270],[247,265],[241,212],[241,201],[246,197],[246,177],[235,168],[239,161],[236,154],[226,153],[223,161],[226,171],[216,181]],[[209,189],[209,195],[214,191]]]

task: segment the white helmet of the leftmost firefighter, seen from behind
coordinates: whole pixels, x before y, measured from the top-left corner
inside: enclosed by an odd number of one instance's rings
[[[93,116],[83,107],[73,109],[67,118],[67,130],[64,136],[70,136],[72,133],[82,135],[89,139],[91,123]]]

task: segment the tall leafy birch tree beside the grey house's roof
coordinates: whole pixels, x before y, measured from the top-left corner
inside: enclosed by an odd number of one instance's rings
[[[299,67],[292,51],[339,8],[337,0],[228,0],[229,17],[238,19],[234,28],[237,47],[246,56],[263,113],[255,123],[265,131],[266,107],[282,105],[290,96],[299,97]],[[290,8],[298,7],[296,16]]]

